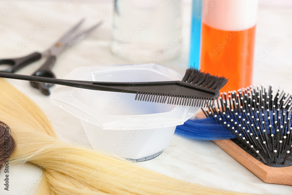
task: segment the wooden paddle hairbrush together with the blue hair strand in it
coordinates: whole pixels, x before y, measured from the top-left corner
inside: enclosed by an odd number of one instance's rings
[[[250,86],[228,92],[228,96],[221,93],[216,107],[202,109],[205,119],[190,120],[176,132],[197,139],[221,139],[215,144],[264,182],[292,185],[292,95],[280,89],[275,94],[271,86],[268,90]],[[199,127],[192,126],[198,123]],[[226,138],[231,140],[222,140]]]

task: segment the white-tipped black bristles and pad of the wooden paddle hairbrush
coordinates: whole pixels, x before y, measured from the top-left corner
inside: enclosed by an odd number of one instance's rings
[[[274,91],[276,92],[276,91]],[[271,167],[292,166],[291,95],[272,87],[250,86],[220,97],[207,117],[224,124],[236,136],[233,141],[254,158]],[[225,112],[220,112],[220,109]],[[291,127],[290,127],[291,126]],[[241,136],[238,136],[241,134]]]

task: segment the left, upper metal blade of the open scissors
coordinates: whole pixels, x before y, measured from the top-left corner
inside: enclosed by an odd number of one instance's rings
[[[77,23],[74,27],[72,27],[66,34],[64,34],[58,42],[53,44],[53,46],[48,49],[49,55],[56,56],[58,55],[62,49],[64,49],[70,41],[72,41],[73,34],[76,32],[76,30],[79,28],[79,26],[84,22],[84,19],[82,19],[79,23]]]

